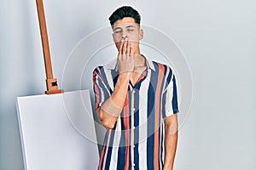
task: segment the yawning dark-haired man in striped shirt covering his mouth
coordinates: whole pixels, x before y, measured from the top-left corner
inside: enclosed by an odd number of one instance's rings
[[[177,88],[173,71],[140,52],[140,14],[124,6],[109,17],[116,62],[93,71],[96,113],[107,128],[98,169],[173,169]]]

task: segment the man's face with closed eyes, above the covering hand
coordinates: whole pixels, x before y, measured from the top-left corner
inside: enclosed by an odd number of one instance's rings
[[[139,41],[143,38],[143,31],[131,17],[125,17],[113,23],[113,41],[117,48],[122,39],[131,42],[131,47],[137,50]]]

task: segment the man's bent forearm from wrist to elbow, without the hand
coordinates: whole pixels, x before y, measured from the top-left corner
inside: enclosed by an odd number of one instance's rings
[[[103,127],[113,128],[125,103],[129,73],[119,74],[111,96],[96,110]],[[109,108],[109,109],[108,109]]]

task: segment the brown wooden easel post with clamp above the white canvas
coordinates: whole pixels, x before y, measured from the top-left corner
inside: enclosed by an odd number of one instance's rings
[[[52,66],[49,54],[49,42],[47,36],[47,29],[44,17],[44,4],[43,0],[36,0],[38,8],[38,20],[41,32],[41,39],[44,51],[44,67],[46,72],[46,87],[47,91],[45,94],[61,94],[63,93],[62,89],[58,89],[57,79],[53,78]]]

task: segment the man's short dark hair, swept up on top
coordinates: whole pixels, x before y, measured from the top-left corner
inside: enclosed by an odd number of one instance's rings
[[[111,26],[113,26],[113,23],[117,20],[122,20],[125,17],[131,17],[135,20],[135,23],[140,25],[141,23],[141,15],[138,14],[137,10],[134,8],[131,8],[130,6],[123,6],[118,9],[116,9],[113,14],[108,18],[110,21]]]

